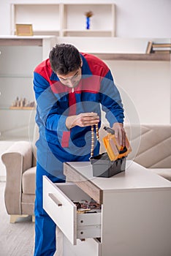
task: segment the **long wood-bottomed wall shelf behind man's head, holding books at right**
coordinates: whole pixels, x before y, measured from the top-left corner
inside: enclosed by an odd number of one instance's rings
[[[58,37],[58,43],[75,45],[80,52],[91,53],[99,59],[110,61],[170,61],[170,53],[145,53],[149,38],[119,37]],[[168,42],[170,38],[153,39]]]

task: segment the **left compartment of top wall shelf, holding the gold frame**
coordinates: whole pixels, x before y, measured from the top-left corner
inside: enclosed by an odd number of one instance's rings
[[[15,24],[32,24],[34,35],[56,35],[61,30],[60,4],[11,4],[11,34]]]

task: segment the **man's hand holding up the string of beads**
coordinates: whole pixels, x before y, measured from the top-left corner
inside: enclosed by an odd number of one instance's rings
[[[99,116],[97,113],[80,113],[76,116],[68,116],[66,118],[66,127],[71,129],[76,125],[79,127],[88,127],[99,123]]]

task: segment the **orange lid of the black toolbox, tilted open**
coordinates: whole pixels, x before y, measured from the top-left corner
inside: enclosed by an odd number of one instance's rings
[[[115,138],[115,131],[110,127],[104,127],[104,129],[107,131],[107,136],[105,136],[102,140],[110,161],[115,161],[116,159],[126,157],[132,151],[128,138],[125,138],[126,145],[120,146]]]

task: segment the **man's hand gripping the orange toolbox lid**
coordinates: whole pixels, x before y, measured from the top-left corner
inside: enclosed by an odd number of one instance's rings
[[[115,131],[115,139],[119,146],[126,146],[125,137],[126,133],[123,129],[123,124],[115,123],[113,124],[113,130]]]

